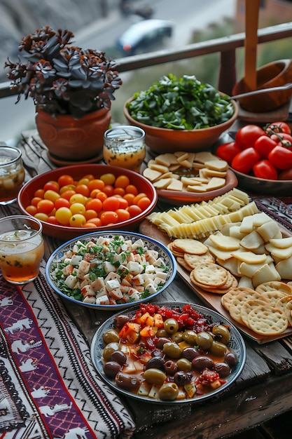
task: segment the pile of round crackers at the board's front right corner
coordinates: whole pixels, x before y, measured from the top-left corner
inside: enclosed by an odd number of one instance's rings
[[[279,335],[292,326],[292,282],[265,282],[255,290],[233,288],[221,303],[233,320],[259,335]]]

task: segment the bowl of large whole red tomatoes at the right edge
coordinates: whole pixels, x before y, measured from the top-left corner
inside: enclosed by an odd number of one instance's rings
[[[219,145],[215,154],[228,161],[240,189],[251,194],[291,196],[292,135],[288,123],[243,126],[234,140]]]

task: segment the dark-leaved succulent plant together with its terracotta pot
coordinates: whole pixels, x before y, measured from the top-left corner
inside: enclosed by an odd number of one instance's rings
[[[69,45],[73,37],[67,29],[36,29],[20,41],[24,60],[8,58],[5,67],[17,102],[24,95],[36,104],[36,127],[50,158],[80,161],[102,151],[111,100],[122,81],[115,61],[102,51]]]

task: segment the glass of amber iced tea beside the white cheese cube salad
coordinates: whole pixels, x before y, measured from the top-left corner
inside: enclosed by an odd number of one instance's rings
[[[22,285],[39,274],[44,246],[39,219],[12,215],[0,219],[0,269],[6,281]]]

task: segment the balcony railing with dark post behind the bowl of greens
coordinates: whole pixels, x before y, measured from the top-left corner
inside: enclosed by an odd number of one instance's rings
[[[292,22],[283,23],[258,29],[258,44],[285,39],[292,36]],[[134,55],[117,60],[119,72],[160,65],[166,62],[186,60],[200,55],[220,53],[220,69],[218,77],[218,89],[231,95],[232,88],[237,82],[236,74],[236,49],[244,47],[245,33],[223,36],[217,39],[189,44],[179,49],[159,50],[143,55]],[[290,58],[290,57],[288,57]],[[292,57],[291,57],[292,58]],[[10,89],[10,83],[0,83],[0,98],[15,95]]]

